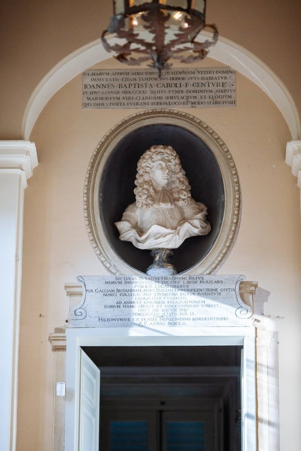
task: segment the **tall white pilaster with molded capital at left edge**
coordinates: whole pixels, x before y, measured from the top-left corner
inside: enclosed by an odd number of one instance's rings
[[[16,449],[24,189],[38,164],[30,141],[0,141],[0,444]]]

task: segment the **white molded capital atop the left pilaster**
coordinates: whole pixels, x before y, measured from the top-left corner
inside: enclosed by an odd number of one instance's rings
[[[26,178],[30,178],[37,165],[38,156],[34,142],[0,141],[0,169],[21,169]]]

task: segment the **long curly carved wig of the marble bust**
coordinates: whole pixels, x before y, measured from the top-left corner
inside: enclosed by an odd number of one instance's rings
[[[191,198],[191,187],[177,152],[171,146],[152,146],[143,153],[137,164],[134,193],[137,207],[143,210],[154,204],[154,162],[162,158],[169,159],[171,162],[171,178],[166,189],[172,194],[174,202],[179,206],[186,206]]]

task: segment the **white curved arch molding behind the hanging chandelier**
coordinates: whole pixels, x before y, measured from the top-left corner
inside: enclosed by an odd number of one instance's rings
[[[203,36],[204,34],[202,33]],[[114,43],[116,39],[110,38],[110,41]],[[98,39],[71,53],[54,66],[38,84],[28,101],[22,122],[22,139],[30,138],[41,111],[59,89],[84,70],[110,57],[112,53],[108,53]],[[261,60],[222,37],[210,50],[210,58],[231,66],[259,86],[282,113],[291,138],[301,137],[300,118],[291,95],[281,80]]]

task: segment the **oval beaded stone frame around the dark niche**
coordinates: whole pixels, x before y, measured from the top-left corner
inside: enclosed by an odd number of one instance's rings
[[[199,137],[213,153],[223,179],[224,216],[218,237],[198,264],[181,275],[215,273],[234,245],[240,223],[241,189],[232,155],[220,136],[201,119],[177,110],[141,111],[114,125],[100,140],[90,159],[84,185],[84,216],[91,245],[105,268],[113,275],[143,275],[128,265],[110,245],[101,221],[99,206],[100,181],[106,162],[117,143],[137,128],[152,124],[168,124],[185,128]]]

